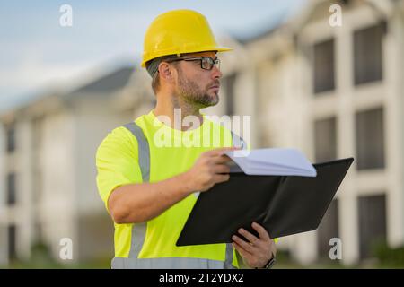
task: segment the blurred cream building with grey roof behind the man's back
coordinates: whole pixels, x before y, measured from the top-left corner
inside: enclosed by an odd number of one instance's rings
[[[74,250],[66,262],[113,256],[113,225],[95,184],[95,152],[112,128],[133,118],[132,107],[141,112],[133,101],[127,106],[134,74],[124,67],[1,116],[0,264],[30,259],[38,244],[60,259],[64,238],[72,239]]]

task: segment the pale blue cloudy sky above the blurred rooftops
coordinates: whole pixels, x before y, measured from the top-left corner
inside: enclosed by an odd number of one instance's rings
[[[268,30],[305,1],[1,1],[0,111],[73,89],[114,67],[138,65],[145,30],[160,13],[196,10],[220,42],[220,35],[245,38]],[[60,25],[63,4],[72,8],[71,27]]]

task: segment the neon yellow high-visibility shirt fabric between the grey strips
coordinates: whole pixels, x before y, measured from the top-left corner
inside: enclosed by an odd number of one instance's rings
[[[136,118],[135,122],[141,127],[150,148],[150,182],[172,178],[189,170],[202,152],[233,145],[229,129],[205,115],[203,117],[202,125],[188,131],[165,125],[154,116],[153,110]],[[112,130],[102,141],[96,154],[96,165],[97,186],[107,210],[108,198],[115,188],[142,183],[138,143],[124,126]],[[191,194],[148,221],[138,258],[195,257],[224,261],[225,244],[175,245],[196,200],[196,194]],[[128,257],[133,223],[114,225],[115,257]],[[236,256],[233,256],[233,265],[238,266]]]

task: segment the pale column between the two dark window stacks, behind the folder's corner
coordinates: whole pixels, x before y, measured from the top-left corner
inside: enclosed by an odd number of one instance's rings
[[[338,27],[336,38],[336,86],[337,111],[337,156],[351,157],[356,154],[355,107],[353,101],[353,40],[349,18]],[[342,240],[342,260],[344,264],[356,263],[359,257],[358,218],[356,204],[356,162],[347,172],[338,190],[339,234]]]

